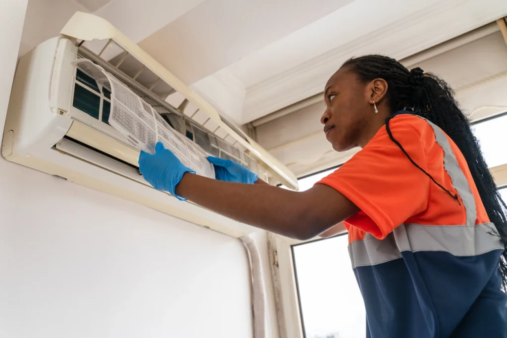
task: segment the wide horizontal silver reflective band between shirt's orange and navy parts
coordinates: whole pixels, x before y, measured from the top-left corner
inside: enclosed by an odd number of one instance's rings
[[[385,239],[367,234],[352,242],[349,254],[352,268],[372,266],[402,257],[403,251],[443,251],[454,256],[477,256],[503,249],[493,223],[477,226],[423,226],[403,224]]]

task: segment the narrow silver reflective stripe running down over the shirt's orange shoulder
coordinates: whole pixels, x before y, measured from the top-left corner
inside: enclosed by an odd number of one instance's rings
[[[466,212],[466,225],[472,227],[475,225],[477,219],[477,209],[474,194],[472,194],[468,180],[466,179],[463,170],[461,170],[461,167],[458,164],[458,160],[452,151],[449,139],[442,131],[442,129],[440,129],[437,125],[427,119],[421,119],[425,120],[431,126],[433,133],[435,134],[435,140],[444,150],[444,168],[451,177],[452,186],[454,189],[456,189],[458,195],[463,201],[463,206]]]

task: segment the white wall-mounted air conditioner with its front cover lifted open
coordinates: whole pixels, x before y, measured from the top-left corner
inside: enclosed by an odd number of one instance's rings
[[[83,67],[87,63],[107,74],[110,81],[97,79]],[[111,82],[118,86],[116,94]],[[159,128],[157,135],[175,133],[203,158],[209,154],[231,159],[265,180],[272,177],[297,189],[291,171],[223,119],[209,103],[110,23],[80,12],[69,20],[59,37],[20,59],[2,154],[9,161],[231,236],[251,232],[245,224],[177,201],[144,181],[137,163],[143,145],[111,123],[110,117],[115,114],[112,105],[125,103],[115,103],[120,87],[153,114]],[[149,133],[139,130],[146,125],[133,121],[134,115],[121,121],[125,129],[132,128],[137,137]]]

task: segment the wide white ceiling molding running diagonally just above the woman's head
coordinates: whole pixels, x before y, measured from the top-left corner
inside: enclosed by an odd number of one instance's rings
[[[507,13],[507,2],[502,6],[503,12],[498,12],[498,6],[488,10],[488,6],[477,5],[473,1],[441,1],[410,17],[410,26],[396,21],[373,30],[247,88],[242,123],[318,94],[330,74],[352,56],[384,53],[403,59],[495,21]],[[475,20],[468,20],[471,9],[474,10]]]

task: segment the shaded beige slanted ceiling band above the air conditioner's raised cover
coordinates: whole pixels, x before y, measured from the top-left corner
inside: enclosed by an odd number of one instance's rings
[[[192,84],[351,1],[207,0],[140,46]]]

